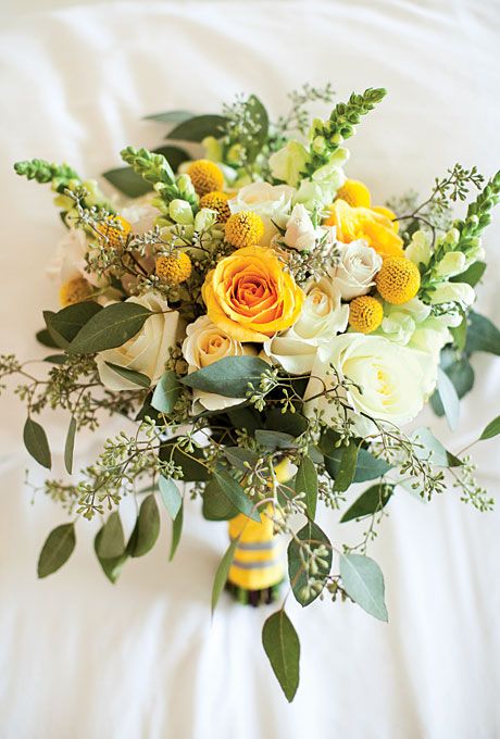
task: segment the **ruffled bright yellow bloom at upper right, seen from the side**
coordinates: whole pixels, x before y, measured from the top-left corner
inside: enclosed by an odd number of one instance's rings
[[[345,200],[336,200],[328,208],[326,226],[337,228],[337,238],[342,243],[363,239],[380,256],[402,256],[403,241],[396,233],[393,222],[368,208],[352,208]]]

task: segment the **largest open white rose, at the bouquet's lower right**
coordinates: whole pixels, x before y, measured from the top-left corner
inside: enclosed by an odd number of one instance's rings
[[[328,389],[336,384],[332,364],[340,379],[347,378],[363,390],[361,393],[351,387],[343,393],[354,409],[354,427],[361,435],[375,428],[362,413],[397,425],[407,424],[420,413],[436,384],[437,366],[427,353],[401,347],[382,336],[337,336],[329,346],[318,348],[304,394],[304,400],[309,400],[307,414],[318,409],[330,422],[338,419],[336,405],[315,396],[323,392],[325,385]]]

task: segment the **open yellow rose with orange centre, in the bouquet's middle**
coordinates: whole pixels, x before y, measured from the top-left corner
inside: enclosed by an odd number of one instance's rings
[[[304,295],[272,249],[246,247],[207,275],[203,300],[213,323],[236,341],[267,341],[298,318]]]

